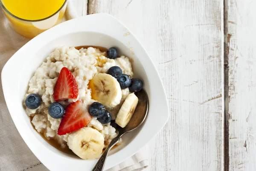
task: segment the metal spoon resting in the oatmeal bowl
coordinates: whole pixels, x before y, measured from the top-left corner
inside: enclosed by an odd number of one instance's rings
[[[137,92],[136,96],[138,97],[139,101],[130,122],[126,125],[125,128],[121,128],[120,126],[116,125],[116,130],[118,130],[119,134],[109,143],[108,147],[99,158],[92,171],[103,171],[110,149],[116,145],[121,136],[123,136],[125,133],[135,130],[144,122],[148,114],[148,96],[144,90]]]

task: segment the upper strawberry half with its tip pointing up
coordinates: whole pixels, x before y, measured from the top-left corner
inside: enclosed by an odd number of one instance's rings
[[[78,86],[76,79],[69,69],[63,67],[54,87],[54,100],[63,101],[66,99],[76,99],[77,96]]]

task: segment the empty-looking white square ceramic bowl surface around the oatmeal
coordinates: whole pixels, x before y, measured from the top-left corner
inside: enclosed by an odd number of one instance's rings
[[[143,80],[149,98],[149,113],[144,124],[123,137],[124,143],[112,151],[105,169],[139,151],[169,118],[160,76],[143,46],[122,23],[109,14],[92,14],[61,23],[26,43],[2,70],[3,93],[13,122],[30,150],[51,171],[90,171],[97,159],[79,159],[49,145],[31,125],[23,108],[23,98],[30,78],[50,52],[58,46],[83,45],[116,46],[120,54],[132,58],[134,77]]]

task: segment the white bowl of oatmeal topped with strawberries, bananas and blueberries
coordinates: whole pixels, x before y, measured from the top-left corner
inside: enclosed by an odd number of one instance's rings
[[[108,54],[111,47],[117,49],[117,58]],[[35,156],[52,171],[93,168],[102,149],[116,136],[110,121],[119,120],[117,124],[125,126],[118,115],[126,99],[134,95],[132,83],[126,82],[129,78],[143,82],[149,98],[148,116],[111,150],[106,169],[135,154],[169,117],[157,70],[122,23],[108,14],[61,23],[26,43],[2,70],[3,93],[15,126]],[[109,97],[103,98],[102,93]],[[79,148],[86,148],[87,153]]]

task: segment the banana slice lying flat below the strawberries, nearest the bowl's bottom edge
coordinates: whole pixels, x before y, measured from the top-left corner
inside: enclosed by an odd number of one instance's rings
[[[102,153],[104,137],[98,130],[84,127],[69,134],[67,145],[80,158],[95,159]]]

